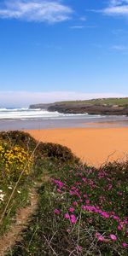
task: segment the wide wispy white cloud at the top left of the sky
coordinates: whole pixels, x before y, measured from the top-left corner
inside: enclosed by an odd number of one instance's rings
[[[73,9],[58,0],[5,0],[0,5],[1,19],[16,19],[39,22],[69,20]]]

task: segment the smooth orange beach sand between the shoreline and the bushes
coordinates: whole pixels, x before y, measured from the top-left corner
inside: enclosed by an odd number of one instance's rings
[[[81,160],[101,166],[110,160],[125,160],[128,154],[128,128],[62,128],[27,130],[32,137],[71,148]]]

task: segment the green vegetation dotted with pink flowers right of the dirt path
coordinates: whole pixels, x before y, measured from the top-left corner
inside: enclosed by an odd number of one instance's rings
[[[127,170],[47,169],[52,179],[39,189],[38,211],[13,255],[127,255]]]

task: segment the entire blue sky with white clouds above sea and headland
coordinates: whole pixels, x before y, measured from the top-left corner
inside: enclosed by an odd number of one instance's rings
[[[128,0],[0,2],[0,107],[128,96]]]

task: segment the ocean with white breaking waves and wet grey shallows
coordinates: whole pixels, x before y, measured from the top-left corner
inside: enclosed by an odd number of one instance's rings
[[[108,123],[109,125],[128,126],[128,117],[58,113],[45,109],[0,108],[0,131],[91,127],[94,123],[96,125]]]

